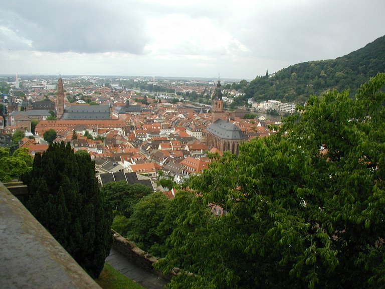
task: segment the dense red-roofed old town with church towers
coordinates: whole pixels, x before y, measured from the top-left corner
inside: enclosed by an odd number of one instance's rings
[[[34,155],[48,148],[44,133],[54,129],[55,141],[70,142],[95,160],[101,184],[128,182],[127,174],[133,173],[137,177],[131,181],[161,177],[181,183],[209,166],[208,153],[238,154],[241,142],[273,133],[268,128],[272,122],[264,117],[244,119],[250,111],[226,111],[219,80],[211,107],[173,103],[175,95],[150,95],[122,85],[75,85],[62,77],[54,84],[37,80],[23,87],[25,96],[16,96],[21,89],[17,78],[4,97],[8,113],[3,132],[25,131],[20,146]],[[152,186],[155,190],[154,182]]]

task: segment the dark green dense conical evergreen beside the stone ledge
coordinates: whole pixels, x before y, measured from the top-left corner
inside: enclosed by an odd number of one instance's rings
[[[112,244],[112,212],[98,188],[95,164],[70,143],[36,155],[24,176],[26,207],[90,274],[97,278]]]

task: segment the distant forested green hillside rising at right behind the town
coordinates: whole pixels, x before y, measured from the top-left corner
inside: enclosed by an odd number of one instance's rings
[[[332,89],[349,89],[354,95],[378,72],[385,72],[385,36],[336,59],[298,63],[269,77],[257,77],[248,85],[245,99],[304,102],[311,94]]]

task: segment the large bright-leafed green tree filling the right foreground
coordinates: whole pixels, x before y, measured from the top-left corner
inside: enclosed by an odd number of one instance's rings
[[[311,96],[277,134],[190,178],[197,196],[158,264],[181,269],[168,287],[382,287],[384,85],[380,73],[354,99]]]

